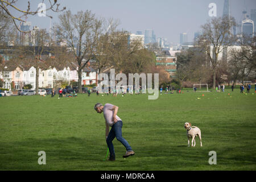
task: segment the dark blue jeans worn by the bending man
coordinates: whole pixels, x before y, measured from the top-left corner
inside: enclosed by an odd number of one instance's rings
[[[129,145],[129,143],[126,141],[126,139],[124,139],[122,137],[122,126],[123,126],[123,122],[117,121],[116,123],[114,123],[114,125],[112,126],[108,138],[106,140],[108,147],[109,147],[109,152],[110,155],[115,155],[115,151],[114,151],[114,146],[113,146],[113,139],[116,137],[117,140],[119,142],[121,142],[123,144],[123,146],[125,146],[127,151],[132,151],[131,146]]]

